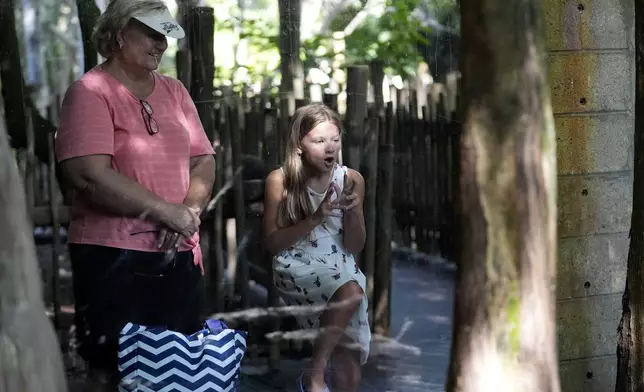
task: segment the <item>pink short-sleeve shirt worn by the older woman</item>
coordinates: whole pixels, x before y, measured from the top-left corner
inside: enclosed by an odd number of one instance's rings
[[[93,68],[67,90],[56,133],[58,161],[106,154],[112,168],[171,203],[181,203],[190,186],[190,158],[214,154],[187,90],[176,79],[154,73],[154,90],[146,102],[158,133],[150,135],[142,105],[119,81]],[[68,242],[158,251],[158,227],[72,199]],[[198,244],[198,233],[190,245]]]

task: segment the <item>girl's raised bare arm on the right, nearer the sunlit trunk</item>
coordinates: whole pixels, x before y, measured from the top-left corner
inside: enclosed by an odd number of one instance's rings
[[[349,253],[360,253],[364,248],[366,230],[364,224],[364,212],[362,208],[362,203],[364,201],[364,178],[362,175],[353,170],[348,170],[348,177],[353,184],[353,192],[358,197],[358,205],[351,208],[350,210],[344,211],[344,248]],[[345,184],[346,186],[346,184]]]

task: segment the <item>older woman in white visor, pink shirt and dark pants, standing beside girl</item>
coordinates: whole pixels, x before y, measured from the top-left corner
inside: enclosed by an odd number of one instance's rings
[[[156,72],[166,36],[184,31],[162,1],[110,2],[93,36],[107,60],[69,87],[56,136],[72,189],[79,352],[111,382],[126,322],[200,326],[199,212],[214,151],[186,89]]]

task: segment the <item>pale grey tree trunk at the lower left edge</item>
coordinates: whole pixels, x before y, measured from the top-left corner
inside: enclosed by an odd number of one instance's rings
[[[23,189],[0,110],[0,392],[66,392]]]

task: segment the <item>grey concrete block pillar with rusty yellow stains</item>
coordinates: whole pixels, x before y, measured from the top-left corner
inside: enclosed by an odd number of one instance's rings
[[[563,392],[614,390],[632,201],[633,0],[545,0]]]

